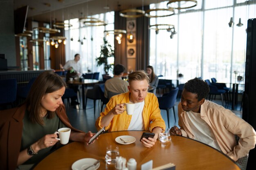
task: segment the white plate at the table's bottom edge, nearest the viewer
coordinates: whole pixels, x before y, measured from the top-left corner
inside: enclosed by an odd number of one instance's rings
[[[84,158],[84,159],[79,159],[78,161],[75,161],[72,164],[72,170],[84,170],[85,168],[87,168],[88,166],[91,166],[94,164],[94,162],[96,162],[96,159],[93,158]],[[98,163],[96,166],[92,166],[91,168],[89,168],[88,170],[97,170],[99,168],[99,164]]]

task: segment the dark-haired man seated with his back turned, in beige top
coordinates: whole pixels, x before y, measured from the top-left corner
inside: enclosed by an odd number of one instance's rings
[[[108,92],[113,93],[125,93],[128,92],[128,82],[122,80],[124,75],[125,67],[121,64],[117,64],[114,67],[114,77],[108,79],[105,82],[105,93],[104,96],[108,98]]]

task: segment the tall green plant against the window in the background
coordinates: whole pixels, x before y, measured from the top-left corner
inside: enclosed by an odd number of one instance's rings
[[[112,46],[108,43],[108,40],[106,38],[103,38],[104,44],[101,45],[101,54],[99,57],[96,58],[97,66],[101,66],[101,64],[104,64],[104,71],[106,74],[108,74],[108,71],[110,68],[114,67],[114,64],[108,64],[108,59],[110,57],[114,57],[114,49]]]

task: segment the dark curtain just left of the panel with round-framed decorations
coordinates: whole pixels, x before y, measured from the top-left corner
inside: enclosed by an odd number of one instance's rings
[[[126,30],[126,18],[119,16],[119,11],[115,11],[115,29]],[[126,34],[123,34],[121,44],[115,42],[115,64],[123,64],[127,68],[127,56],[126,56]]]

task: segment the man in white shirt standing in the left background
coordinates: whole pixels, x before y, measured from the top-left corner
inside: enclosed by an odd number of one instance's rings
[[[69,60],[66,62],[66,64],[63,66],[63,68],[67,71],[76,71],[76,73],[79,75],[79,77],[82,75],[82,65],[80,60],[80,55],[76,54],[74,60]]]

